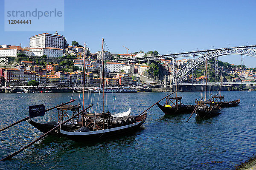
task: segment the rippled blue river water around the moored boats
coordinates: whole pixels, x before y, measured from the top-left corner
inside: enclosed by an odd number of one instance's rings
[[[209,119],[196,119],[194,114],[186,122],[190,114],[165,116],[155,105],[148,111],[142,128],[128,136],[92,143],[47,136],[13,159],[1,161],[0,169],[233,169],[236,164],[256,154],[256,106],[253,106],[256,105],[256,91],[224,91],[223,94],[226,101],[240,99],[239,106],[224,108],[220,115]],[[50,108],[69,101],[71,95],[0,94],[0,128],[29,116],[29,105],[44,104]],[[113,95],[116,96],[114,102]],[[184,104],[194,104],[195,98],[200,98],[200,92],[179,95],[183,96]],[[107,110],[118,113],[132,108],[131,115],[138,115],[164,96],[166,93],[108,94]],[[79,99],[79,94],[75,93],[73,99]],[[97,99],[98,94],[92,94],[91,100],[95,105]],[[85,101],[88,105],[87,95]],[[33,119],[47,122],[56,120],[56,117],[57,111],[52,110]],[[28,122],[0,132],[0,159],[42,134]]]

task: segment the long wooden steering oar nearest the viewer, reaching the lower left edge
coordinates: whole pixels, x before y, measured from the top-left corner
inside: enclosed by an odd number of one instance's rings
[[[65,123],[67,123],[68,121],[70,121],[71,119],[73,119],[74,117],[78,116],[79,114],[83,113],[84,111],[86,111],[88,108],[92,107],[93,105],[89,105],[87,108],[85,108],[84,110],[80,111],[79,113],[76,113],[74,116],[70,117],[69,119],[65,120],[64,122],[62,122],[60,125],[54,127],[52,130],[49,130],[47,133],[44,133],[44,135],[40,136],[38,139],[35,139],[33,142],[31,142],[30,144],[26,145],[25,147],[21,148],[20,150],[16,151],[15,153],[12,153],[11,155],[7,156],[4,159],[1,159],[0,161],[4,161],[7,159],[11,159],[13,156],[17,155],[18,153],[20,153],[21,151],[25,150],[26,148],[28,148],[29,146],[31,146],[32,144],[34,144],[35,142],[38,142],[40,139],[42,139],[44,136],[47,136],[49,133],[51,133],[52,131],[58,129],[61,125],[64,125]]]

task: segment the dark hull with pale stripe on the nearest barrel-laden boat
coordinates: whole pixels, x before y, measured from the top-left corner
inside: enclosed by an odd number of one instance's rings
[[[113,127],[110,129],[105,130],[95,130],[95,131],[87,131],[87,132],[69,132],[62,129],[60,130],[61,135],[71,139],[75,142],[90,142],[98,139],[108,138],[111,136],[116,136],[124,133],[133,132],[137,130],[146,120],[146,113],[143,114],[142,120],[139,122],[135,122],[130,125],[120,126],[120,127]]]

